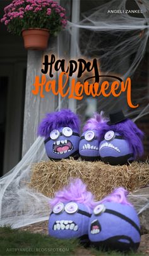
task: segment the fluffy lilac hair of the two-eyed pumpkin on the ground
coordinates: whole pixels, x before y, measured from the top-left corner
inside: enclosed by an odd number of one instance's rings
[[[50,205],[53,208],[59,202],[75,201],[76,203],[83,203],[92,212],[92,209],[97,205],[93,198],[93,194],[86,190],[86,185],[80,179],[74,179],[71,180],[67,187],[56,192],[55,197],[50,201]]]

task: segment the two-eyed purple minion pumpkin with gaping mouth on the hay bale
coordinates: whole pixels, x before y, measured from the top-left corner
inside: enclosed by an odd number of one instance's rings
[[[50,159],[78,158],[80,119],[69,109],[47,114],[39,125],[39,135],[45,137],[45,151]]]

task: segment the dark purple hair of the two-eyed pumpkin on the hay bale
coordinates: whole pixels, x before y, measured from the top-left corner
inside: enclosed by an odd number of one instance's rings
[[[52,130],[60,127],[70,127],[72,130],[80,132],[80,119],[69,109],[62,109],[58,112],[52,112],[46,115],[41,121],[38,129],[38,135],[48,137]]]

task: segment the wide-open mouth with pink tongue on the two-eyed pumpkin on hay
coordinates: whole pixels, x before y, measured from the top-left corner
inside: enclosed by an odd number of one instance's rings
[[[53,144],[53,152],[56,154],[65,154],[73,150],[73,144],[70,140],[57,140]]]

